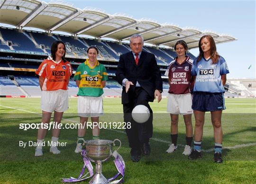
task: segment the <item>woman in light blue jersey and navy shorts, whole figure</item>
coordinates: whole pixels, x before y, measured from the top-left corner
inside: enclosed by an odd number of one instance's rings
[[[189,159],[201,158],[201,140],[204,115],[210,111],[214,130],[214,160],[222,163],[222,127],[221,114],[226,109],[224,104],[224,85],[229,69],[224,58],[216,51],[215,42],[210,35],[199,40],[199,56],[193,61],[192,76],[195,76],[192,109],[195,116],[194,149]]]

